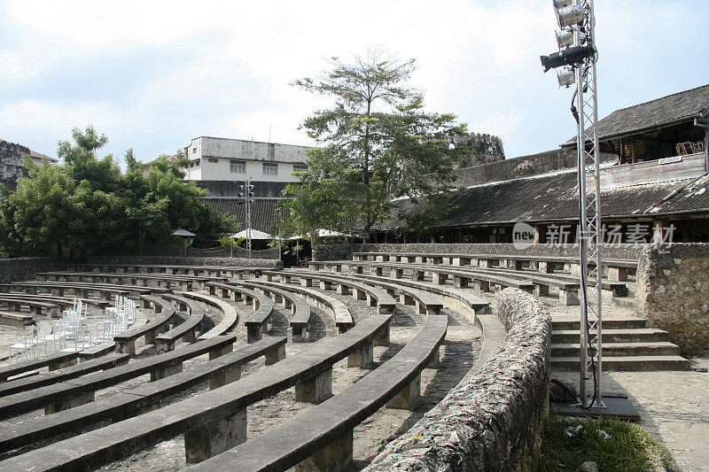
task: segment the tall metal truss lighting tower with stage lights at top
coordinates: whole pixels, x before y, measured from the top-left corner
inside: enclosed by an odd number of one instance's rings
[[[576,83],[572,114],[577,123],[580,247],[580,401],[603,407],[601,389],[601,190],[598,164],[596,19],[593,0],[553,0],[559,52],[541,56],[544,72],[557,68],[559,87]],[[575,103],[574,103],[575,102]],[[589,376],[592,375],[592,376]],[[588,391],[588,380],[593,389]]]

